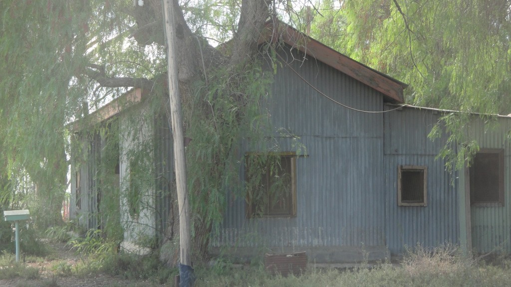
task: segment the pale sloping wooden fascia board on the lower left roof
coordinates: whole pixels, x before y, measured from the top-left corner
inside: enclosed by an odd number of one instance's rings
[[[132,89],[132,90],[120,95],[118,98],[112,100],[108,104],[99,108],[97,111],[89,114],[87,116],[88,125],[95,125],[95,124],[101,123],[103,121],[106,121],[107,119],[111,118],[112,116],[119,114],[126,108],[131,107],[132,105],[134,105],[136,103],[139,103],[142,100],[142,95],[143,95],[143,91],[140,88]],[[80,130],[79,122],[82,120],[83,119],[78,119],[77,121],[75,121],[71,124],[73,131]]]

